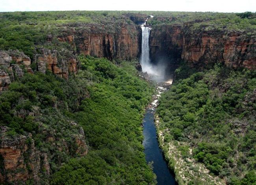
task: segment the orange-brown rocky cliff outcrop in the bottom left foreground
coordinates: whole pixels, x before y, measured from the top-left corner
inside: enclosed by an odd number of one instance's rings
[[[77,126],[77,125],[76,125]],[[41,125],[42,127],[42,125]],[[43,152],[35,147],[35,141],[31,133],[23,135],[8,135],[9,128],[0,127],[0,183],[12,182],[15,184],[24,183],[28,179],[33,179],[38,183],[42,176],[48,178],[51,174],[50,160],[56,157],[52,152]],[[78,147],[76,154],[83,156],[87,154],[88,147],[85,143],[84,133],[81,127],[78,134],[74,134],[72,139]],[[69,154],[67,141],[58,139],[58,134],[54,131],[43,130],[47,137],[46,142],[56,146],[59,151]],[[69,154],[72,155],[72,154]]]

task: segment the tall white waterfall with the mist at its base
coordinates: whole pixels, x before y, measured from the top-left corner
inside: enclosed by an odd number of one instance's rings
[[[150,35],[150,27],[145,26],[145,24],[141,25],[142,31],[142,40],[141,40],[141,57],[140,63],[143,72],[147,72],[147,74],[155,81],[165,81],[168,78],[166,73],[167,63],[164,58],[158,59],[157,63],[150,62],[149,56],[149,35]]]

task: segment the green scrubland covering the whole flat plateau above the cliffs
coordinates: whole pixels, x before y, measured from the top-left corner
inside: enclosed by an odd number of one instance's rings
[[[134,24],[131,16],[148,20],[153,26],[189,25],[192,30],[246,31],[255,35],[256,13],[161,12],[161,11],[47,11],[0,13],[0,50],[21,50],[33,59],[37,46],[76,50],[57,37],[70,25],[83,29],[94,25],[98,31],[115,33],[122,24]],[[67,31],[67,30],[66,30]],[[132,35],[133,33],[131,33]],[[48,36],[52,41],[47,42]]]

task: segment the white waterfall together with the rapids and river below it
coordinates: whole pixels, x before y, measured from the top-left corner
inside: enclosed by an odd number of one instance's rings
[[[152,15],[150,16],[153,17]],[[147,19],[148,20],[148,19]],[[159,65],[152,65],[150,62],[149,56],[149,35],[150,28],[147,27],[147,20],[143,25],[141,25],[141,57],[140,63],[142,67],[142,72],[147,73],[150,76],[151,80],[156,82],[164,83],[165,74],[164,71],[159,70]],[[162,66],[163,67],[163,66]],[[158,86],[159,84],[157,84]],[[163,158],[163,153],[158,146],[157,136],[156,136],[156,128],[154,123],[154,111],[156,106],[158,105],[158,97],[161,96],[161,89],[163,87],[157,87],[158,91],[156,95],[154,95],[154,102],[152,102],[146,110],[146,114],[143,118],[143,146],[145,148],[144,152],[146,155],[146,160],[148,163],[152,163],[153,171],[156,174],[156,179],[158,185],[167,185],[167,184],[176,184],[174,175],[171,174],[165,159]]]

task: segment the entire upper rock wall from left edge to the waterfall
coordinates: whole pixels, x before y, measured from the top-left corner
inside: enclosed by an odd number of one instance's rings
[[[50,70],[67,79],[70,73],[76,73],[79,68],[79,54],[106,57],[109,60],[132,60],[139,56],[141,30],[135,24],[123,22],[115,27],[67,24],[58,29],[58,35],[49,33],[46,38],[45,44],[51,46],[50,49],[37,46],[33,60],[19,50],[0,51],[0,91],[14,81],[15,74],[20,78],[25,71],[33,73],[32,65],[34,70],[43,73]]]

